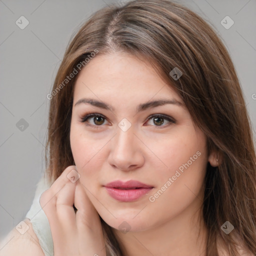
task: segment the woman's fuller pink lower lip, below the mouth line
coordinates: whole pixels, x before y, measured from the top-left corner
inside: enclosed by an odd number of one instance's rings
[[[152,189],[152,187],[141,187],[137,189],[118,189],[113,187],[105,188],[110,196],[123,202],[134,201]]]

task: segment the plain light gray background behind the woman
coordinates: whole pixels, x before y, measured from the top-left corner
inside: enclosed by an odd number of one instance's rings
[[[110,2],[0,0],[0,239],[24,219],[44,171],[46,95],[69,38],[91,13]],[[177,2],[217,29],[235,64],[255,130],[256,1]],[[29,21],[24,29],[15,24],[21,15]],[[234,21],[229,29],[220,23],[226,15]],[[23,130],[16,126],[21,118],[28,123]]]

